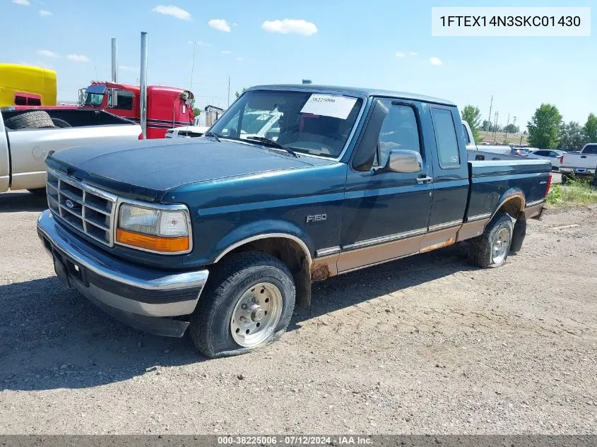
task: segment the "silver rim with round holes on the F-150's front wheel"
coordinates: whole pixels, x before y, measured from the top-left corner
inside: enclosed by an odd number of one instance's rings
[[[232,339],[242,347],[260,345],[278,326],[282,304],[282,292],[271,282],[259,282],[251,286],[232,311]]]

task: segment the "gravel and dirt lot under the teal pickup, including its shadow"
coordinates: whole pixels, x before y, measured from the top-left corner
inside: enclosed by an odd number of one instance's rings
[[[66,290],[43,208],[0,194],[0,433],[597,433],[595,206],[502,268],[456,246],[320,283],[280,342],[210,361]]]

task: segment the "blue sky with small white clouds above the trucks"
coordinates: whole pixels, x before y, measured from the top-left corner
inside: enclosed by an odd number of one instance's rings
[[[593,0],[568,3],[528,0],[507,6],[591,6]],[[495,0],[0,0],[0,29],[7,37],[0,61],[53,68],[59,100],[74,100],[89,81],[110,78],[111,37],[119,44],[119,81],[136,83],[140,32],[147,31],[150,84],[189,88],[189,42],[201,42],[192,84],[201,106],[227,105],[230,76],[231,99],[243,86],[309,78],[478,105],[483,119],[493,95],[498,121],[506,124],[510,114],[522,127],[541,102],[557,105],[566,121],[581,124],[589,112],[597,113],[594,31],[591,37],[432,37],[432,6],[504,5]]]

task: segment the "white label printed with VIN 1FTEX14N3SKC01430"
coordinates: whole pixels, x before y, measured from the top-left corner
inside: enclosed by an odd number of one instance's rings
[[[591,8],[431,8],[432,36],[590,36]]]

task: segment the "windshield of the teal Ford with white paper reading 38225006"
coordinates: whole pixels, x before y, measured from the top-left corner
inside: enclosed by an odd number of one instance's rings
[[[348,141],[361,105],[360,98],[327,93],[250,90],[211,131],[231,139],[269,138],[296,152],[335,158]]]

